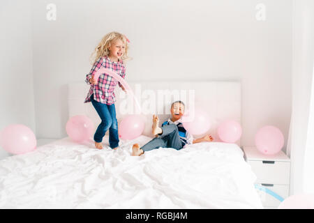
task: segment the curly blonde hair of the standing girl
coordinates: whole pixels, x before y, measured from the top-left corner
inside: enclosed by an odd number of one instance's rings
[[[91,63],[94,64],[101,56],[109,56],[110,50],[108,48],[115,40],[121,40],[126,45],[125,52],[121,56],[122,61],[130,59],[128,56],[128,39],[123,34],[113,31],[107,33],[100,43],[98,43],[94,52],[91,54]]]

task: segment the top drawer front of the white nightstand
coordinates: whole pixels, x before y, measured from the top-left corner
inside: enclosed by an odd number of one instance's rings
[[[257,176],[255,183],[290,184],[290,162],[248,160]]]

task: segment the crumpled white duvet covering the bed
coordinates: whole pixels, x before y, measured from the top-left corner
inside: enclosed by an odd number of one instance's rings
[[[65,138],[0,160],[0,208],[262,208],[236,144],[203,142],[140,157]]]

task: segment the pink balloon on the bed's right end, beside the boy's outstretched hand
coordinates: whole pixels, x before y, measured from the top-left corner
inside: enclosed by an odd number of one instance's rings
[[[225,121],[218,126],[217,134],[221,141],[234,143],[240,139],[242,128],[237,121]]]

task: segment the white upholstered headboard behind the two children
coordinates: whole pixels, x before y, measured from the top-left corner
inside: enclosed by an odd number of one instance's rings
[[[195,105],[202,107],[209,114],[211,129],[207,133],[212,134],[214,139],[218,139],[216,129],[223,121],[231,119],[241,124],[240,82],[128,82],[128,84],[142,107],[142,114],[146,118],[143,134],[149,137],[153,137],[151,134],[152,114],[158,114],[160,123],[163,123],[170,116],[171,103],[178,99],[183,100],[188,107],[194,98]],[[100,123],[98,114],[91,103],[84,104],[88,91],[88,84],[68,84],[69,117],[84,114],[89,116],[97,127]],[[132,98],[126,97],[119,86],[116,87],[115,95],[118,122],[126,116],[127,112],[131,114],[138,112],[135,109],[135,102]],[[241,141],[237,141],[237,144],[241,146]]]

